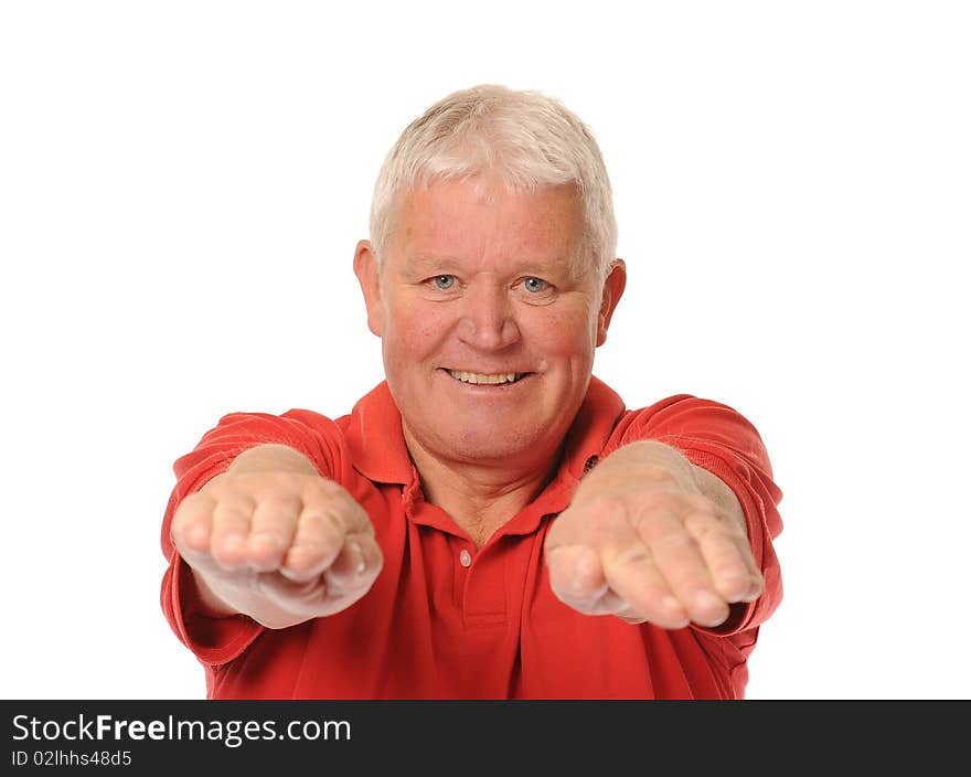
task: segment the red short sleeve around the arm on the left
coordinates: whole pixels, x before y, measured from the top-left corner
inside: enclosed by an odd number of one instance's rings
[[[162,577],[161,606],[179,640],[205,664],[215,666],[236,658],[264,627],[244,615],[211,618],[200,611],[191,570],[172,542],[172,518],[188,494],[226,471],[239,454],[267,444],[287,445],[300,451],[323,477],[335,477],[348,466],[346,451],[334,422],[301,409],[279,416],[265,413],[223,416],[195,448],[173,465],[175,486],[166,507],[161,531],[162,553],[169,563]]]

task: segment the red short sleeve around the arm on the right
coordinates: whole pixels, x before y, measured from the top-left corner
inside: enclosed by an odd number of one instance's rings
[[[782,596],[779,560],[772,546],[782,531],[778,509],[782,492],[772,479],[768,451],[758,430],[727,405],[679,395],[648,408],[627,412],[604,453],[607,455],[640,439],[677,448],[692,464],[721,478],[735,493],[745,512],[753,553],[765,577],[766,589],[756,603],[735,608],[737,611],[728,621],[729,630],[749,629],[764,622]]]

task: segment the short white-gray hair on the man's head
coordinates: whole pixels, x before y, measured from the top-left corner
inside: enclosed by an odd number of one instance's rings
[[[583,202],[584,258],[602,283],[617,249],[610,179],[593,134],[558,100],[483,84],[455,92],[412,121],[374,184],[371,243],[378,264],[399,193],[434,180],[498,175],[510,191],[573,183]]]

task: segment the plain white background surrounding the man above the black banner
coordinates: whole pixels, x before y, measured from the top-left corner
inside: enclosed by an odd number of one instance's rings
[[[204,695],[159,606],[172,462],[381,380],[374,177],[482,82],[602,148],[629,284],[595,373],[768,446],[786,595],[748,696],[971,696],[968,8],[4,2],[2,696]]]

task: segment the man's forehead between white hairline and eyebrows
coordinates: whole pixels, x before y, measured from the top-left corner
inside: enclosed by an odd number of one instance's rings
[[[433,181],[403,192],[397,205],[392,243],[404,257],[572,264],[584,236],[573,184],[510,191],[481,179]]]

